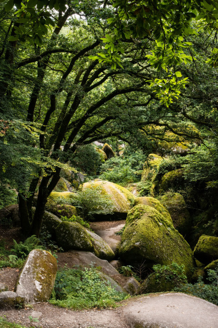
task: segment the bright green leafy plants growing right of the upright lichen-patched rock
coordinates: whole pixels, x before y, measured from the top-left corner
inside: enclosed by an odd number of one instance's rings
[[[115,307],[126,298],[100,279],[94,268],[63,269],[58,271],[50,303],[72,309]]]

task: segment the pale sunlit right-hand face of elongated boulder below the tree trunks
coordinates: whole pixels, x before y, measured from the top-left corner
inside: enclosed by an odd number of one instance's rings
[[[94,246],[95,255],[102,260],[111,261],[114,259],[115,254],[111,247],[101,237],[92,231],[86,230],[91,237],[92,244]]]

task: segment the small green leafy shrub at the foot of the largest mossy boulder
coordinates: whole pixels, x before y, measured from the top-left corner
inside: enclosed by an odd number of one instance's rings
[[[165,281],[172,281],[176,285],[187,283],[184,265],[178,265],[172,262],[169,265],[156,264],[152,268],[155,272],[156,281],[164,279]]]

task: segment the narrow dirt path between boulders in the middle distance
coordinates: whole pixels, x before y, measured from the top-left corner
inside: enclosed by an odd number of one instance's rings
[[[125,220],[92,222],[92,230],[99,235],[116,253],[121,237],[115,235],[125,225]]]

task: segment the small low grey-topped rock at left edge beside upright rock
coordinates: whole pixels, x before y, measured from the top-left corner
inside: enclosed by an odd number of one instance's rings
[[[13,307],[23,307],[24,298],[20,297],[17,293],[13,291],[2,291],[0,293],[0,309],[13,308]]]

